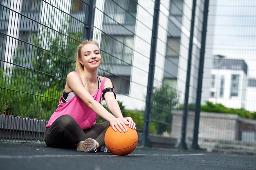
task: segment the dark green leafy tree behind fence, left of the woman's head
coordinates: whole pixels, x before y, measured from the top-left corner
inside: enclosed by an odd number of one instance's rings
[[[36,77],[43,92],[45,87],[61,85],[62,88],[67,73],[74,70],[76,48],[80,44],[80,40],[75,38],[81,39],[82,33],[65,31],[66,28],[67,24],[63,24],[58,32],[45,28],[35,41],[34,69],[37,70]]]

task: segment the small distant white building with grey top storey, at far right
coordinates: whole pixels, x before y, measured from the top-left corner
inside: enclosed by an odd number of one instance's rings
[[[247,64],[244,60],[213,60],[209,101],[230,108],[245,108]]]

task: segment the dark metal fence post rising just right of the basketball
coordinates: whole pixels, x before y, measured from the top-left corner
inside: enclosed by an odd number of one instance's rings
[[[148,70],[148,87],[147,87],[147,96],[146,96],[146,109],[144,113],[144,124],[143,124],[143,137],[141,139],[141,146],[151,147],[149,140],[149,126],[150,126],[150,114],[151,114],[151,101],[153,93],[153,83],[154,83],[154,74],[155,74],[155,55],[157,48],[157,33],[158,33],[158,20],[159,20],[159,9],[160,0],[155,0],[154,7],[154,17],[153,17],[153,27],[151,35],[151,48],[150,48],[150,61],[149,61],[149,70]]]

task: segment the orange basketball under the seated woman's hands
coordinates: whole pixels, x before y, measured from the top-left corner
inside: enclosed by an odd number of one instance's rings
[[[128,155],[135,150],[138,144],[138,134],[135,129],[127,126],[128,131],[114,131],[110,126],[105,134],[105,145],[108,150],[115,155]]]

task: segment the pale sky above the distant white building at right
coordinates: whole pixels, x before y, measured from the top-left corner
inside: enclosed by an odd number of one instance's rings
[[[256,0],[210,0],[210,6],[216,8],[208,22],[214,27],[213,55],[245,60],[248,78],[256,78]]]

